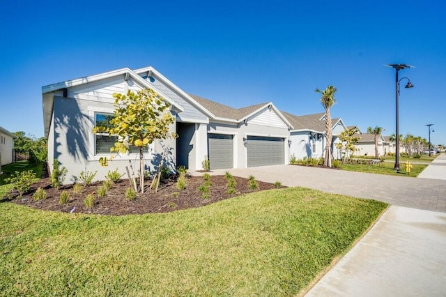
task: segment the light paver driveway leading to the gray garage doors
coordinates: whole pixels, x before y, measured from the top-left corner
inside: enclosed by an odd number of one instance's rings
[[[235,176],[253,175],[259,181],[280,181],[286,186],[301,186],[334,194],[376,199],[397,206],[446,212],[446,180],[297,165],[218,169],[211,174],[224,174],[226,171]]]

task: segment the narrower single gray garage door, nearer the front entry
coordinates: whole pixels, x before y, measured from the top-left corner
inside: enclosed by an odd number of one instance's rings
[[[233,135],[208,134],[210,169],[232,168],[234,165]]]

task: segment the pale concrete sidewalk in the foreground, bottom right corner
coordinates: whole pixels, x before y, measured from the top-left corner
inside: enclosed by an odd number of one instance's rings
[[[390,206],[305,296],[445,296],[446,213]]]

